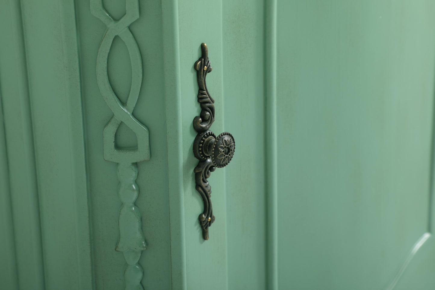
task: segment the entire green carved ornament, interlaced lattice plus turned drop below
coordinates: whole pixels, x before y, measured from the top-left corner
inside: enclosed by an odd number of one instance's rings
[[[115,250],[124,253],[127,262],[125,289],[143,290],[143,269],[138,261],[147,245],[142,231],[141,213],[134,202],[139,195],[136,162],[150,159],[150,144],[148,129],[132,115],[141,89],[142,58],[129,29],[130,24],[139,18],[139,3],[138,0],[126,0],[126,13],[120,20],[110,17],[101,0],[90,0],[90,10],[107,26],[98,49],[96,71],[100,93],[114,114],[103,130],[103,143],[104,159],[118,163],[118,196],[122,206],[119,211],[120,238]],[[124,41],[131,58],[131,89],[125,104],[114,93],[107,74],[107,57],[115,36]],[[115,133],[122,122],[136,134],[137,148],[116,147]]]

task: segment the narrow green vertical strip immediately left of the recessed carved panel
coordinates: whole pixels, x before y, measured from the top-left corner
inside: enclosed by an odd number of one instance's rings
[[[89,191],[84,140],[83,101],[80,82],[80,59],[77,37],[75,1],[60,2],[64,75],[70,135],[71,179],[74,188],[74,214],[77,240],[75,244],[80,289],[95,289],[92,247],[90,239]],[[74,64],[74,65],[71,65]]]

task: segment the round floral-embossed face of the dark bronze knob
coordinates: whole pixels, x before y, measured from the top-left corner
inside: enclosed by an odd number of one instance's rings
[[[235,149],[234,137],[228,132],[224,132],[213,142],[211,147],[211,161],[214,166],[222,168],[230,163]]]

